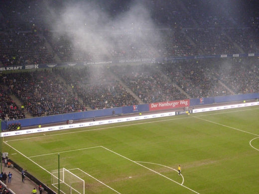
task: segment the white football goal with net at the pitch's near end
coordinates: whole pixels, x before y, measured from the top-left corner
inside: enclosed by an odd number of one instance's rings
[[[60,192],[63,194],[85,194],[85,181],[69,170],[59,170]],[[51,185],[58,189],[58,170],[51,173]]]

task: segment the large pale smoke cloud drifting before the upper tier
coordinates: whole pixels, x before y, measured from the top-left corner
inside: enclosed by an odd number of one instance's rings
[[[161,42],[150,12],[140,1],[130,2],[127,10],[113,13],[96,1],[63,2],[59,10],[48,7],[50,29],[56,38],[65,35],[74,51],[90,60],[114,57],[143,58],[159,56]],[[153,29],[153,30],[150,30]]]

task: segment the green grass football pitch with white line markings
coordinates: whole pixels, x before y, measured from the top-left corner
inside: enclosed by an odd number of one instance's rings
[[[60,153],[60,167],[85,180],[87,194],[259,193],[258,106],[3,141],[3,152],[54,191],[48,172]]]

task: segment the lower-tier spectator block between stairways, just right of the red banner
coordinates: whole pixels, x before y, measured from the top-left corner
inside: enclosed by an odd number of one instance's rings
[[[163,72],[191,98],[230,95],[211,68],[214,62],[206,59],[178,61],[164,64]]]

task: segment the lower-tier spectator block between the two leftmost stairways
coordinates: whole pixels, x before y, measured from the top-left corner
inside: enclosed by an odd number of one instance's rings
[[[32,116],[85,110],[83,104],[51,71],[10,73],[2,78],[2,82]]]

